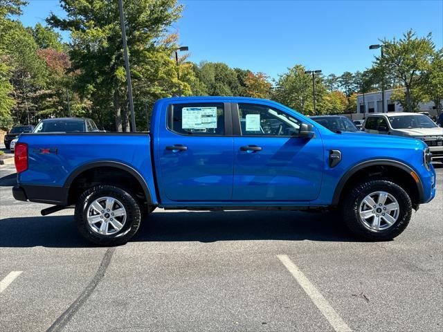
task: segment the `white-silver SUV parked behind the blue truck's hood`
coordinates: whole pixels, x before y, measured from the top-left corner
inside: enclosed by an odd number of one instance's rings
[[[374,113],[366,116],[363,128],[367,133],[406,136],[424,140],[433,159],[443,161],[443,128],[420,113]]]

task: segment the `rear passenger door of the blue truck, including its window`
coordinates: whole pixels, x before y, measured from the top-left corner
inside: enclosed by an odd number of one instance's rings
[[[165,112],[158,159],[163,203],[228,201],[233,190],[233,136],[227,102],[176,102]],[[161,124],[163,126],[164,124]]]

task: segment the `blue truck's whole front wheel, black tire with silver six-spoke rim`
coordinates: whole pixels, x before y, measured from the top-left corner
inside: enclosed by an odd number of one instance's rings
[[[347,228],[372,241],[394,239],[406,229],[412,216],[410,197],[386,180],[356,185],[343,199],[341,210]]]

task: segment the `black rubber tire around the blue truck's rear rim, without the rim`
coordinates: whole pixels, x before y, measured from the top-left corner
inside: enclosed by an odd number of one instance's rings
[[[126,221],[123,228],[109,235],[98,234],[87,221],[89,206],[100,197],[111,197],[118,200],[126,210]],[[137,200],[127,190],[114,185],[96,185],[85,191],[75,205],[75,225],[84,239],[98,246],[119,246],[127,243],[136,234],[141,223],[141,210]]]

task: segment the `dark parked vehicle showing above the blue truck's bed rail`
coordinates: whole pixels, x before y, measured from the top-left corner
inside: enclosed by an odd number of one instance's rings
[[[39,122],[34,133],[98,133],[96,123],[86,118],[53,118]]]

